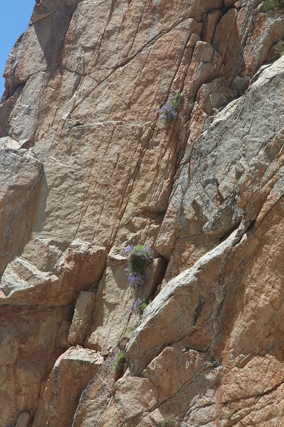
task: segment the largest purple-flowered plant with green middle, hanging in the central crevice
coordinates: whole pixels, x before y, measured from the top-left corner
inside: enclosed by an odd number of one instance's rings
[[[128,287],[133,291],[140,290],[147,283],[145,267],[152,259],[153,252],[150,245],[129,245],[124,251],[127,259],[125,272]]]

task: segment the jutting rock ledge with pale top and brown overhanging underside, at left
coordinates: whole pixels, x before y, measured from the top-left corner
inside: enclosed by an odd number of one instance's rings
[[[50,251],[50,259],[44,261],[47,266],[42,266],[42,271],[26,257],[13,256],[0,279],[2,304],[67,305],[80,290],[98,283],[104,271],[104,248],[80,239],[75,239],[65,251],[59,242],[37,243],[35,253]],[[52,263],[56,263],[53,274],[45,271]]]

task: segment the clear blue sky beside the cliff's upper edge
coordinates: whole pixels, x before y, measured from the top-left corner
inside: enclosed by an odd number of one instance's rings
[[[34,6],[35,0],[0,0],[0,98],[8,55],[19,35],[28,28]]]

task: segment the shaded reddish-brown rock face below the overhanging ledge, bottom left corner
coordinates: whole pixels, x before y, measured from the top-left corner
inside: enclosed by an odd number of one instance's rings
[[[67,318],[66,307],[0,307],[1,426],[15,425],[20,412],[35,417],[41,384],[64,351],[58,331]]]

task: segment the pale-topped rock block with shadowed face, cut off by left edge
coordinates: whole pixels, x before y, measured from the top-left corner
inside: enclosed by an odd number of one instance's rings
[[[35,190],[43,175],[41,161],[16,147],[19,145],[12,138],[0,138],[0,275],[13,252],[26,243],[24,235],[30,233],[37,208]]]

